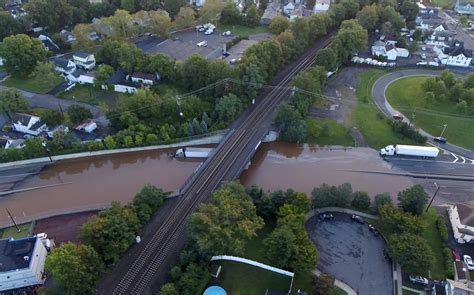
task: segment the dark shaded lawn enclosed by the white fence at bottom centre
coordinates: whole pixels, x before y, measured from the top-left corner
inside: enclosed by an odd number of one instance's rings
[[[233,261],[218,261],[222,266],[218,279],[211,280],[222,286],[227,294],[261,295],[267,289],[287,292],[291,278],[259,267]]]

